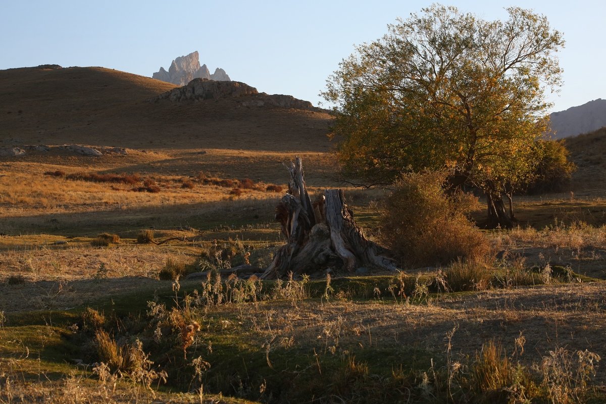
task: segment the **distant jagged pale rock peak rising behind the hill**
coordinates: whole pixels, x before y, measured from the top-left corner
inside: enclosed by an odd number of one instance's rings
[[[200,66],[198,51],[176,58],[170,64],[168,71],[164,70],[164,67],[161,67],[151,77],[176,85],[185,85],[196,78],[230,81],[229,76],[222,68],[216,68],[215,73],[211,75],[206,65]]]

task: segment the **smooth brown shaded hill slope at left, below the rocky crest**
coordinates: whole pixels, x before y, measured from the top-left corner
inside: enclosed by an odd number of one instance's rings
[[[175,85],[102,67],[0,71],[0,147],[327,151],[330,115],[236,98],[150,102]]]

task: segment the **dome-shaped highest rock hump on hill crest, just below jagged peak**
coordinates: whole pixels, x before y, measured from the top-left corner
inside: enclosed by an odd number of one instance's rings
[[[257,89],[239,81],[193,79],[189,84],[162,93],[151,101],[159,101],[161,99],[169,99],[173,102],[186,100],[201,101],[205,99],[241,97],[251,94],[258,94]]]

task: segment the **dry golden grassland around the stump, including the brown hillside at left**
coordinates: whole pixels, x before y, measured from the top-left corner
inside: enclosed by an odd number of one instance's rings
[[[0,71],[0,149],[25,150],[0,156],[0,403],[606,401],[603,130],[567,140],[570,192],[517,197],[521,226],[485,233],[490,265],[221,280],[283,242],[283,163],[343,186],[331,118],[148,101],[170,88]],[[345,188],[370,237],[383,195]]]

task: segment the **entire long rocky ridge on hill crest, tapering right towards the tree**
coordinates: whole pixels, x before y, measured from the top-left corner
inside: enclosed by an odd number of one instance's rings
[[[172,102],[204,101],[207,99],[241,98],[242,107],[279,107],[294,108],[296,110],[310,110],[327,112],[314,107],[311,102],[297,99],[290,95],[259,93],[255,87],[239,81],[213,81],[207,79],[193,79],[183,87],[160,94],[150,99],[158,102],[168,99]]]

